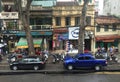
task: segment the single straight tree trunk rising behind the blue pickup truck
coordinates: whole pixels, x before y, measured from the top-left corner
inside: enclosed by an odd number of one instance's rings
[[[78,38],[78,53],[84,52],[84,33],[86,27],[86,12],[89,0],[83,0],[83,8],[82,8],[82,15],[80,21],[80,28],[79,28],[79,38]]]

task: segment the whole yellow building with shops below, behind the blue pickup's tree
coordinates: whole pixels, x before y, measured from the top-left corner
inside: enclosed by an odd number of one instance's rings
[[[78,48],[77,38],[70,38],[70,31],[80,27],[80,18],[83,2],[57,2],[53,7],[53,47],[56,49],[66,49],[66,43],[72,44],[74,49]],[[90,0],[87,17],[87,27],[85,33],[85,49],[93,51],[93,32],[94,32],[94,1]],[[70,29],[72,28],[72,29]]]

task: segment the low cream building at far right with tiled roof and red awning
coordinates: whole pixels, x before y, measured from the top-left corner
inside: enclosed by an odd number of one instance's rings
[[[95,23],[95,51],[98,47],[104,47],[106,50],[110,47],[120,49],[120,19],[113,16],[98,16]]]

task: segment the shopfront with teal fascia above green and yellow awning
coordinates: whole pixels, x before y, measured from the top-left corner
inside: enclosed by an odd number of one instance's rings
[[[31,34],[33,36],[34,48],[40,48],[40,50],[42,49],[51,50],[52,49],[52,32],[51,31],[48,31],[48,32],[32,31]],[[28,48],[25,32],[23,31],[18,32],[16,36],[19,37],[19,40],[16,43],[16,48],[17,49]]]

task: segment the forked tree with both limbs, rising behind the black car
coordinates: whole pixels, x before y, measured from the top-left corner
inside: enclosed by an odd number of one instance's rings
[[[21,6],[22,0],[15,0],[16,6],[18,6],[17,9],[19,11],[19,18],[22,21],[22,25],[23,25],[25,33],[26,33],[29,55],[34,55],[35,50],[34,50],[33,38],[32,38],[31,30],[29,27],[31,2],[32,2],[32,0],[27,0],[25,8],[23,9]]]

